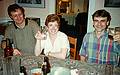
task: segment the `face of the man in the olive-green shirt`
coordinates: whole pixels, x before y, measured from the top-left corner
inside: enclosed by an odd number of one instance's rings
[[[16,9],[16,11],[12,11],[10,17],[13,21],[15,21],[17,25],[20,25],[24,22],[24,14],[20,9]]]

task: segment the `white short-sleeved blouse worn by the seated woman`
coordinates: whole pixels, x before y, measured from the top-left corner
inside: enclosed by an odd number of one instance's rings
[[[57,38],[54,41],[54,45],[52,45],[49,34],[47,33],[47,38],[45,40],[41,40],[41,50],[44,49],[44,53],[50,52],[60,52],[61,48],[67,48],[70,51],[70,45],[68,41],[68,37],[63,32],[58,31]],[[68,54],[68,53],[67,53]]]

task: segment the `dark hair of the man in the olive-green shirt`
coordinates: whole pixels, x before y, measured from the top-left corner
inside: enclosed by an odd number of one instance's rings
[[[23,16],[25,17],[25,10],[23,7],[19,6],[18,4],[12,4],[8,6],[8,15],[11,16],[11,12],[16,12],[16,9],[20,9],[23,13]]]

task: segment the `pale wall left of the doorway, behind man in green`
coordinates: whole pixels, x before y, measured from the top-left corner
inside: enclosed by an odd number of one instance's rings
[[[11,20],[7,14],[7,7],[15,3],[15,0],[0,1],[0,22]],[[41,25],[44,25],[45,18],[50,13],[55,13],[55,0],[45,0],[45,8],[25,8],[26,17],[36,17],[41,19]]]

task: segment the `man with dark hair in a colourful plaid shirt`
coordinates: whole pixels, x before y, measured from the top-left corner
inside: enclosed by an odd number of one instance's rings
[[[97,64],[116,64],[115,56],[119,53],[117,44],[109,38],[107,28],[111,15],[106,10],[97,10],[93,15],[93,32],[87,33],[80,49],[81,60]]]

